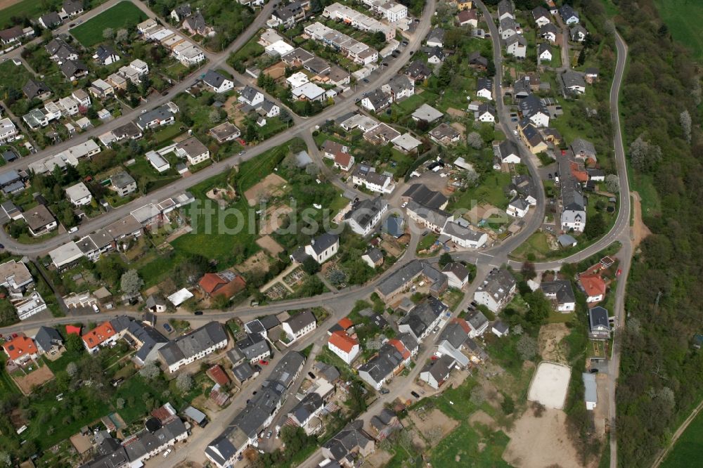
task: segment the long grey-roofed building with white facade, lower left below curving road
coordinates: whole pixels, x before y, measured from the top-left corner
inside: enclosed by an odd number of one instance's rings
[[[222,325],[209,322],[170,341],[159,349],[159,356],[169,372],[175,372],[183,365],[193,363],[226,346],[227,334]]]

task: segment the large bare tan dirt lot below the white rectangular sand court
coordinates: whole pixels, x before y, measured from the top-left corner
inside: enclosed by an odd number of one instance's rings
[[[580,467],[579,457],[566,434],[566,415],[547,409],[542,417],[532,410],[524,412],[508,432],[510,442],[503,460],[515,467]]]

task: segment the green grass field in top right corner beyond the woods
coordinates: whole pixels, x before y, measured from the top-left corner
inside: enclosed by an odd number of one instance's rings
[[[692,56],[703,60],[703,2],[691,0],[654,0],[673,39],[688,46]]]

